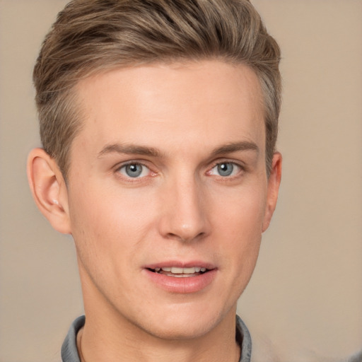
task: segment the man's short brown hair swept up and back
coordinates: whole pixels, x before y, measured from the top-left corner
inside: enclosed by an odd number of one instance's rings
[[[151,62],[246,64],[264,96],[267,172],[281,104],[280,50],[247,0],[73,0],[42,44],[33,80],[45,151],[64,177],[81,129],[74,86],[95,72]]]

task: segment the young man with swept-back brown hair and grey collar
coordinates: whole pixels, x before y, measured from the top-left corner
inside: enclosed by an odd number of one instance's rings
[[[63,361],[250,361],[281,180],[279,47],[245,0],[74,0],[34,70],[42,214],[76,245]]]

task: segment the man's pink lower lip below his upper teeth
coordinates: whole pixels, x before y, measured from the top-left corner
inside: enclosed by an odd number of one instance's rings
[[[209,286],[216,277],[216,269],[197,276],[168,276],[144,269],[144,272],[159,288],[171,293],[196,293]]]

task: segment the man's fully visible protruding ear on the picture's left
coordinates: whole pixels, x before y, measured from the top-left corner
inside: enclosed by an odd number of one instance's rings
[[[70,234],[66,183],[55,160],[42,148],[34,148],[29,153],[28,181],[35,204],[52,227]]]

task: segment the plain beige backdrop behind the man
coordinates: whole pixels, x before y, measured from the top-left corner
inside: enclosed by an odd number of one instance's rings
[[[59,361],[82,313],[71,238],[35,208],[32,66],[64,0],[0,0],[0,362]],[[279,206],[239,313],[255,361],[362,348],[362,1],[255,0],[283,51]]]

